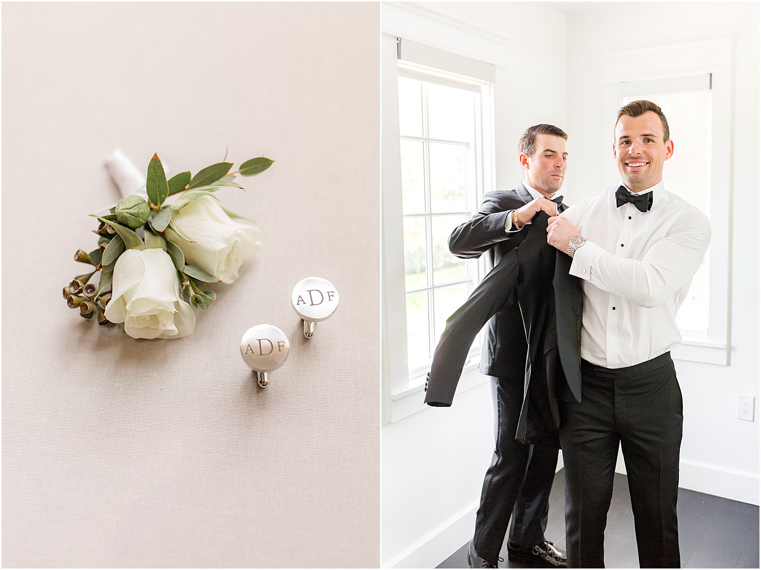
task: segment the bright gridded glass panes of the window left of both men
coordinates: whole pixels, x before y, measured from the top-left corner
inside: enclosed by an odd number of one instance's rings
[[[473,291],[479,263],[449,252],[451,231],[482,196],[481,85],[400,62],[399,123],[407,361],[422,384],[447,317]],[[435,73],[436,77],[424,75]],[[479,341],[474,343],[479,350]]]

